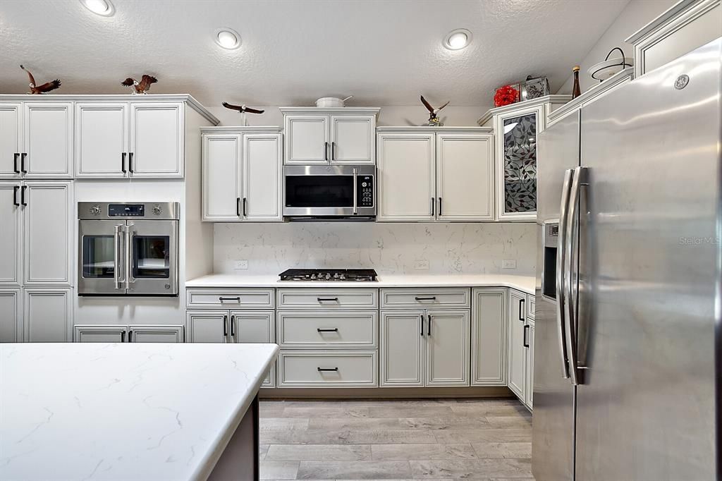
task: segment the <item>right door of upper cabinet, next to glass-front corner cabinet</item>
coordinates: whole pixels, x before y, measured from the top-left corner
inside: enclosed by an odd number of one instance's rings
[[[494,220],[494,137],[438,134],[439,220]]]

